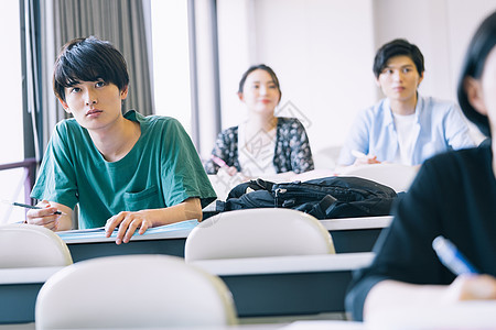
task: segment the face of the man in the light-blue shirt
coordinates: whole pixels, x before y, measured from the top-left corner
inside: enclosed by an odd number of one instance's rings
[[[422,79],[413,61],[409,56],[399,55],[389,58],[377,84],[391,101],[408,101],[416,97]]]

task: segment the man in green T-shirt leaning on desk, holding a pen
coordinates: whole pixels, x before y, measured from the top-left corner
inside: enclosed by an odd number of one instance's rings
[[[78,204],[79,228],[106,226],[110,237],[119,227],[120,244],[137,230],[202,220],[215,193],[190,136],[172,118],[122,114],[128,88],[110,43],[90,36],[63,47],[53,89],[74,118],[55,127],[31,194],[43,208],[28,212],[29,223],[68,230]]]

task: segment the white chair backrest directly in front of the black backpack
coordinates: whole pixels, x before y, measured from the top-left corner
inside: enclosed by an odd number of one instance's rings
[[[292,209],[222,212],[202,221],[186,238],[186,262],[334,253],[328,231],[312,216]]]

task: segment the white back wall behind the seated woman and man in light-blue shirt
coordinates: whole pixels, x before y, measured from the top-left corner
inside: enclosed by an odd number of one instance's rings
[[[265,63],[279,76],[281,106],[308,118],[314,154],[343,143],[356,112],[381,97],[371,66],[395,37],[425,57],[420,92],[455,100],[459,67],[493,0],[218,0],[223,128],[246,114],[241,74]]]

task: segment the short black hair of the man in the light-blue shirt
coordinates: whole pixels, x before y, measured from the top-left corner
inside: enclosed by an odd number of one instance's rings
[[[423,67],[423,55],[420,52],[419,47],[410,44],[405,38],[395,38],[393,41],[382,45],[376,53],[373,68],[376,78],[379,78],[380,73],[382,73],[384,68],[388,65],[388,61],[391,57],[399,55],[410,57],[417,67],[417,72],[420,76],[422,76],[425,69]]]

